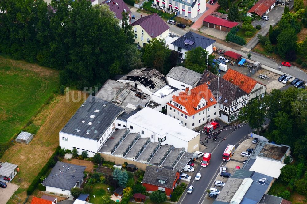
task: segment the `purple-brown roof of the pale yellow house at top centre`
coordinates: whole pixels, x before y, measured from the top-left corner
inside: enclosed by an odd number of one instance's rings
[[[158,16],[153,13],[149,16],[144,16],[133,22],[131,26],[140,25],[148,35],[155,38],[169,29],[169,26]]]

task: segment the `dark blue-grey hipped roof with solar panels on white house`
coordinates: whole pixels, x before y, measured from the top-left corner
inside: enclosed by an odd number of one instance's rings
[[[189,41],[189,43],[186,40]],[[187,32],[185,35],[181,36],[174,42],[172,42],[173,45],[176,45],[178,47],[181,47],[185,50],[192,50],[196,47],[202,47],[203,49],[206,49],[208,46],[215,43],[216,40],[212,40],[210,38],[206,38],[204,36],[201,36],[195,32]],[[192,43],[193,42],[193,43]]]

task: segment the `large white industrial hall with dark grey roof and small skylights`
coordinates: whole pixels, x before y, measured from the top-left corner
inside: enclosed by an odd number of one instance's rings
[[[124,109],[95,96],[89,96],[60,131],[61,148],[87,151],[90,157],[115,130],[115,120]]]

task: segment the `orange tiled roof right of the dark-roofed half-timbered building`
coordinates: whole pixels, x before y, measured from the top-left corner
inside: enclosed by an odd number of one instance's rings
[[[254,89],[257,83],[262,84],[251,77],[245,76],[240,72],[229,69],[226,74],[223,76],[223,79],[231,82],[232,84],[239,86],[240,89],[245,91],[246,93],[251,93],[251,90]],[[263,85],[263,84],[262,84]]]

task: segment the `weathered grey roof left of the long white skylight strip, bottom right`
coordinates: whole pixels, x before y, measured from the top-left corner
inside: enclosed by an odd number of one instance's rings
[[[232,175],[231,175],[232,176]],[[216,201],[223,201],[229,203],[235,192],[239,189],[243,182],[243,179],[236,179],[230,177],[226,182],[225,186],[222,188],[219,196],[216,197]]]

